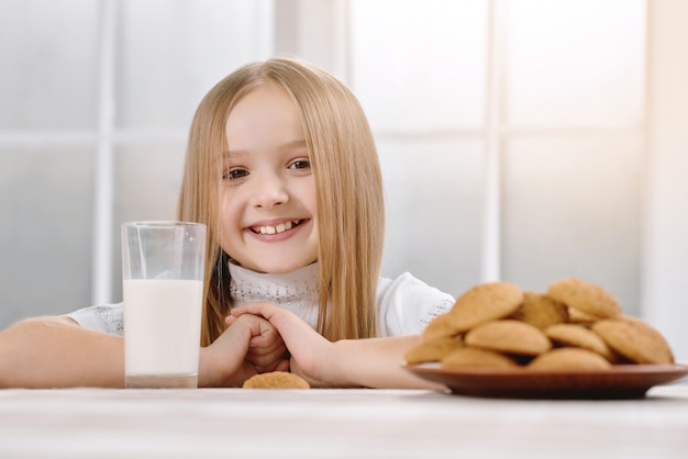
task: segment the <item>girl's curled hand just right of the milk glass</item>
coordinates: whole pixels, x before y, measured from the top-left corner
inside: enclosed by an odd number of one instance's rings
[[[263,317],[246,314],[210,346],[201,348],[199,385],[241,387],[258,372],[286,371],[289,361],[285,352],[275,327]]]

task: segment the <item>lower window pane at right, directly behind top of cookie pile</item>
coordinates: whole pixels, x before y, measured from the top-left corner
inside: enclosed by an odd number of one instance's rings
[[[543,291],[576,276],[639,315],[640,135],[514,139],[503,165],[502,277]]]

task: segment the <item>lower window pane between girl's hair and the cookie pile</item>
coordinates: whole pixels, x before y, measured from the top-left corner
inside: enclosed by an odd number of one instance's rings
[[[479,281],[480,141],[378,142],[387,238],[382,275],[404,271],[454,295]]]

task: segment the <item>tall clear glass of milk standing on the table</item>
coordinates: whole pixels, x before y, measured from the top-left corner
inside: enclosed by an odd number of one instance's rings
[[[122,225],[126,388],[197,388],[206,225]]]

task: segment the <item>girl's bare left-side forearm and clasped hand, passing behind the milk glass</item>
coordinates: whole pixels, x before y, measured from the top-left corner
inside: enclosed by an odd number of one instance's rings
[[[249,352],[263,367],[245,360]],[[259,370],[286,370],[284,354],[273,325],[247,315],[200,349],[199,385],[241,385]],[[74,387],[123,388],[124,339],[68,317],[29,318],[0,333],[0,388]]]

